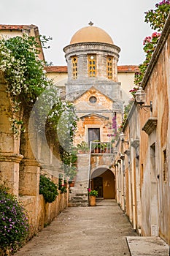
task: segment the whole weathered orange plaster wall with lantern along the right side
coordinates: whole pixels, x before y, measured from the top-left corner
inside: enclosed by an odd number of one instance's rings
[[[170,18],[142,81],[150,108],[134,103],[117,143],[117,201],[142,236],[161,236],[170,244]],[[124,154],[124,156],[122,155]],[[125,171],[125,173],[123,173]],[[124,176],[124,184],[122,177]],[[124,204],[124,206],[123,206]]]

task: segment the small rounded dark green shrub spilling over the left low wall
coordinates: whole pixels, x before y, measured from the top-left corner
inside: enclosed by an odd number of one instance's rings
[[[58,195],[58,186],[50,178],[40,175],[39,194],[45,198],[45,203],[52,203]]]

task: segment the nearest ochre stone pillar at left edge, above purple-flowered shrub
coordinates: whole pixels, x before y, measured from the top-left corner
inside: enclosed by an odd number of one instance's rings
[[[20,117],[14,116],[12,111],[3,72],[0,72],[0,94],[0,182],[9,188],[9,192],[18,196],[19,163],[23,156],[19,154],[20,134],[14,135],[9,118]]]

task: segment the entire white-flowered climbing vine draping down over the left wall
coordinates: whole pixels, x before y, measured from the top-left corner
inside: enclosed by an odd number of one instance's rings
[[[0,41],[0,69],[4,72],[7,93],[12,99],[13,116],[9,120],[14,135],[19,135],[20,130],[24,130],[21,108],[28,113],[33,111],[36,132],[40,135],[53,132],[54,140],[63,148],[60,150],[61,161],[66,165],[67,159],[73,158],[70,148],[77,129],[77,116],[72,103],[61,100],[60,91],[53,80],[47,78],[46,63],[39,59],[39,53],[41,43],[45,48],[48,39],[41,38],[23,34],[23,37],[2,38]],[[72,160],[68,168],[73,168]]]

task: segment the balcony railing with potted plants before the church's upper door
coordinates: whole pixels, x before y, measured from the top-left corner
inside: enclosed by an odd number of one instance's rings
[[[113,154],[112,143],[110,142],[90,142],[90,153],[91,154]]]

